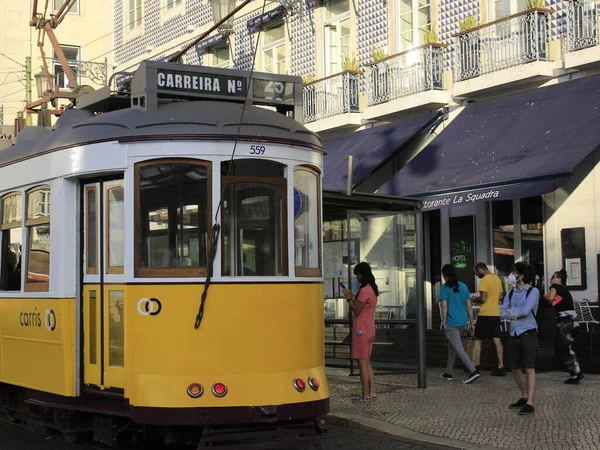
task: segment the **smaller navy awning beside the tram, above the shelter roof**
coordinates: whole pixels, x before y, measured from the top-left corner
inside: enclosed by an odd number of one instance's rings
[[[358,184],[439,115],[440,112],[434,111],[323,141],[326,152],[323,160],[323,188],[331,190],[346,188],[348,175],[346,158],[350,155],[353,157],[352,184]]]

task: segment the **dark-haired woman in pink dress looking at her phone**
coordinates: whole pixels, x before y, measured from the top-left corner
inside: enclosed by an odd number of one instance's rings
[[[375,306],[379,290],[371,266],[362,262],[354,267],[354,275],[360,285],[356,296],[349,289],[344,290],[350,309],[354,313],[354,328],[352,330],[352,358],[358,359],[362,395],[354,398],[354,402],[366,402],[377,398],[371,353],[375,340]]]

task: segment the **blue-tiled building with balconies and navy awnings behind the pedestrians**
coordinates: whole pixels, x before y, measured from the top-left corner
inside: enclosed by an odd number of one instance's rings
[[[574,296],[597,301],[597,12],[595,0],[304,0],[289,14],[257,0],[182,62],[303,77],[303,120],[328,152],[324,187],[350,177],[356,192],[423,200],[431,325],[447,262],[473,293],[476,261],[505,283],[527,261],[543,290],[565,267]],[[206,1],[115,0],[115,70],[166,59],[212,24]],[[403,246],[406,272],[414,243]],[[396,291],[406,305],[410,282]]]

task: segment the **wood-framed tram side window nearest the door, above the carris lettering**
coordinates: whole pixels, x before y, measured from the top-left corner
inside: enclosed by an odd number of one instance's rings
[[[47,292],[50,284],[50,186],[27,193],[25,290]]]

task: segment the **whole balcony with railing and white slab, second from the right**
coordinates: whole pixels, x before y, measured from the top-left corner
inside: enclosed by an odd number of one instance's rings
[[[475,96],[552,77],[557,67],[548,32],[553,12],[529,9],[455,35],[454,94]]]

